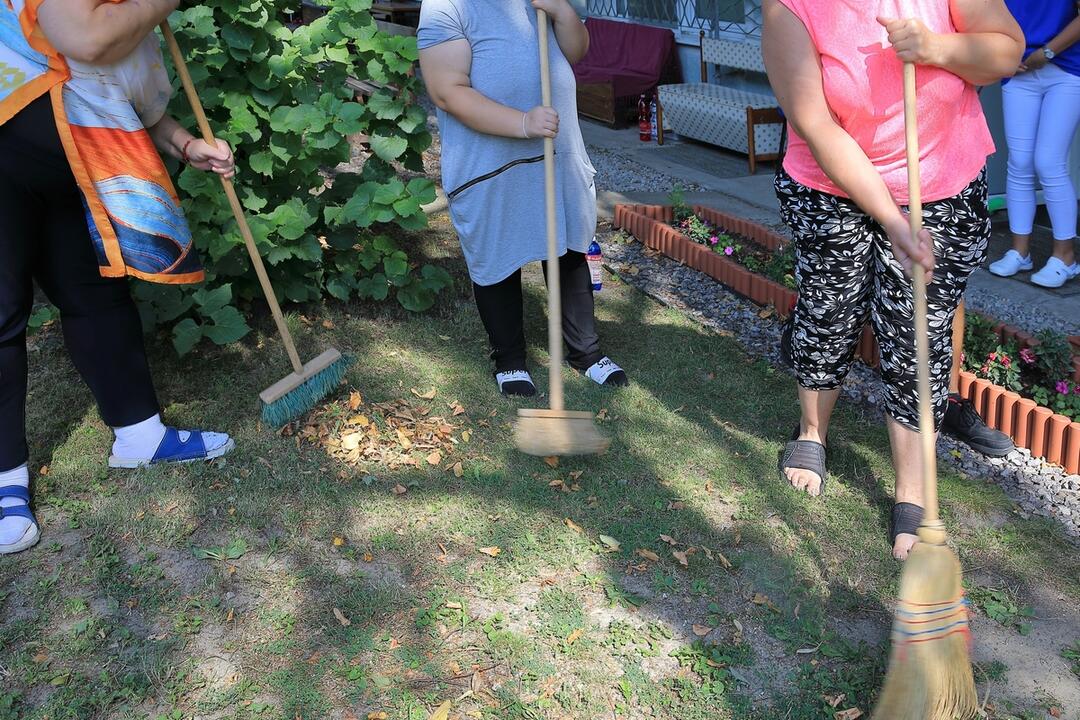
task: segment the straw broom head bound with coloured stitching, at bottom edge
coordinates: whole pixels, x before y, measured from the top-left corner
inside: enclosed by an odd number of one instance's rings
[[[892,655],[874,720],[971,720],[978,697],[960,561],[940,521],[919,528],[904,563]]]

